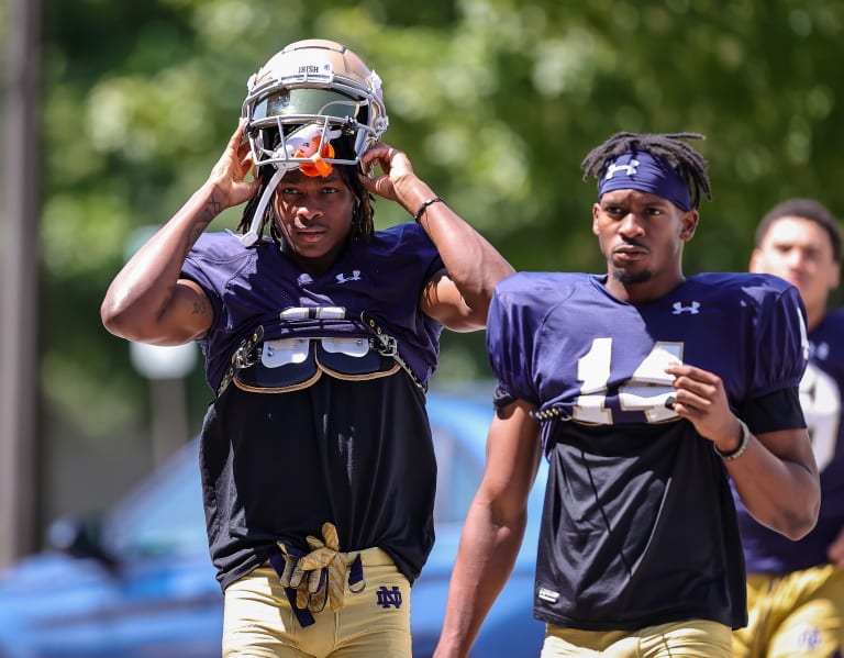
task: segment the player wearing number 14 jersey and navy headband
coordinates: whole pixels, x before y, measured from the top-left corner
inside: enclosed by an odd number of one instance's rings
[[[468,654],[507,580],[541,458],[545,658],[732,656],[746,606],[729,480],[788,537],[815,523],[800,295],[768,275],[684,275],[710,196],[696,137],[620,133],[587,155],[606,274],[520,272],[496,289],[497,414],[438,658]]]

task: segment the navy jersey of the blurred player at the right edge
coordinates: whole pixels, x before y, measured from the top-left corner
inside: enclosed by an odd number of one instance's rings
[[[821,511],[811,533],[791,542],[756,523],[736,498],[738,522],[751,573],[787,573],[824,565],[826,549],[844,527],[844,309],[828,313],[809,334],[809,367],[800,382],[800,402],[821,473]]]

